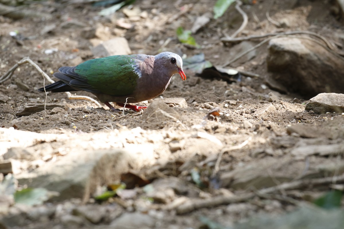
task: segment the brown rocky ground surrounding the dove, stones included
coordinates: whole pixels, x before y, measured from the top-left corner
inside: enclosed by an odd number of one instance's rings
[[[243,19],[234,6],[213,19],[214,1],[142,0],[108,16],[80,2],[27,1],[33,16],[3,13],[0,76],[24,57],[50,77],[109,54],[204,53],[223,66],[267,38],[223,41]],[[174,76],[138,113],[38,93],[47,80],[20,65],[0,84],[0,228],[341,228],[343,201],[331,214],[312,203],[344,189],[341,10],[335,1],[245,3],[237,37],[321,37],[265,42],[229,65],[242,72],[236,80],[185,70],[186,81]],[[181,44],[176,29],[207,15],[192,34],[200,48]],[[42,188],[40,201],[15,203],[27,187]]]

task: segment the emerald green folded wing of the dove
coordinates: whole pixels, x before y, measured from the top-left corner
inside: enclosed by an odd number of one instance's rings
[[[137,85],[137,55],[118,55],[92,59],[74,69],[94,89],[109,95],[129,95]]]

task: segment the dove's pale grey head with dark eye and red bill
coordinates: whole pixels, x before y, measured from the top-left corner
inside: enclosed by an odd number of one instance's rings
[[[186,79],[183,71],[183,60],[175,53],[163,52],[155,56],[155,60],[161,60],[165,68],[168,68],[172,73],[179,73],[183,80]]]

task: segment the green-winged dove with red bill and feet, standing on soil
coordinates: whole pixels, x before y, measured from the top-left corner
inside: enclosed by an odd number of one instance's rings
[[[58,81],[38,89],[39,92],[87,91],[94,94],[111,111],[109,102],[119,107],[140,111],[147,106],[139,103],[162,94],[171,77],[179,73],[186,80],[182,58],[175,53],[158,55],[116,55],[87,60],[74,67],[60,67],[53,76]]]

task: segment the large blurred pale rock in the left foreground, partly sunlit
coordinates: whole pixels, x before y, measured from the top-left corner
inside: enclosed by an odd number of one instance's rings
[[[59,160],[16,178],[20,185],[60,192],[58,200],[82,198],[86,201],[97,186],[119,181],[120,175],[129,169],[141,169],[150,164],[149,161],[154,162],[153,149],[147,147],[144,151],[143,154],[122,149],[74,149]]]

